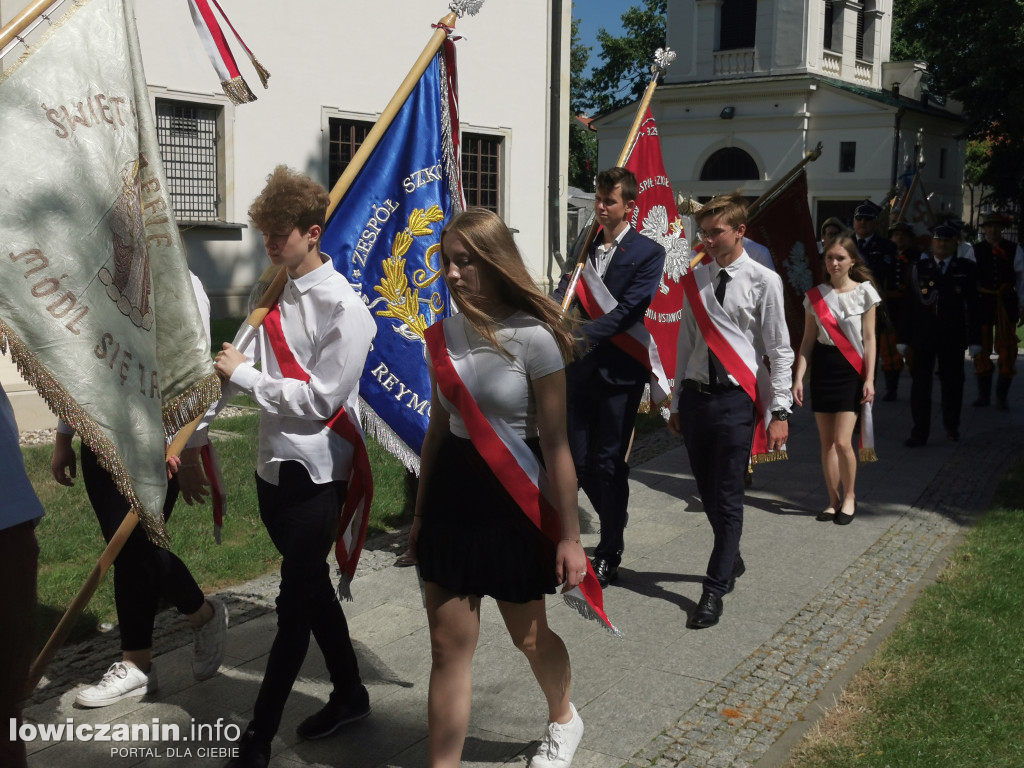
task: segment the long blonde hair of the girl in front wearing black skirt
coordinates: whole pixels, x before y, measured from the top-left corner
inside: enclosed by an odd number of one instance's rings
[[[470,208],[452,217],[441,230],[441,262],[445,279],[450,261],[445,243],[450,242],[449,238],[453,234],[457,234],[466,250],[479,258],[484,268],[490,270],[498,284],[502,302],[548,324],[562,358],[571,359],[574,349],[572,333],[568,323],[561,317],[561,307],[538,289],[526,271],[512,232],[498,214],[485,208]],[[498,322],[459,292],[453,291],[452,296],[459,311],[466,315],[477,333],[495,348],[502,350],[495,335]]]

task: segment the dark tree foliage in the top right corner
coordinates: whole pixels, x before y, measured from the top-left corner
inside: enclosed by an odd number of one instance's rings
[[[974,168],[996,203],[1024,200],[1024,0],[896,0],[893,58],[929,62],[934,89],[964,103]]]

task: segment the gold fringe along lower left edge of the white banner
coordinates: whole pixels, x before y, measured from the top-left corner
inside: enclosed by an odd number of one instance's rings
[[[171,541],[167,535],[167,528],[164,526],[164,521],[142,511],[142,504],[135,496],[131,478],[114,443],[103,434],[96,422],[68,394],[68,390],[53,378],[49,371],[40,365],[36,355],[22,339],[11,332],[3,319],[0,319],[0,351],[8,349],[22,378],[36,388],[39,396],[49,406],[50,411],[78,432],[82,441],[96,455],[99,466],[110,472],[118,492],[131,505],[132,511],[138,515],[139,522],[142,523],[150,541],[158,547],[170,546]]]

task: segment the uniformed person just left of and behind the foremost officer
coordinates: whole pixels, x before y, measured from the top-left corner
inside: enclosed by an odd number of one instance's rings
[[[896,255],[888,263],[882,259],[883,270],[874,273],[888,317],[888,323],[879,329],[879,350],[883,359],[892,357],[900,360],[906,346],[899,340],[906,336],[906,326],[910,322],[910,268],[921,259],[921,251],[914,247],[913,226],[906,221],[892,224],[889,239],[896,247]],[[900,368],[895,361],[885,372],[886,394],[883,399],[896,399],[899,373]]]

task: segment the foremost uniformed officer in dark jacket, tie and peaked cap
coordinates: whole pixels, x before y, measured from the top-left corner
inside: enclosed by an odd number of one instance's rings
[[[913,350],[910,415],[913,428],[905,444],[928,442],[932,419],[932,381],[939,367],[942,425],[950,440],[959,439],[964,402],[964,349],[980,348],[975,264],[956,253],[956,230],[940,224],[932,232],[932,254],[910,269],[910,322],[906,340]]]

